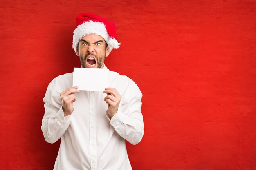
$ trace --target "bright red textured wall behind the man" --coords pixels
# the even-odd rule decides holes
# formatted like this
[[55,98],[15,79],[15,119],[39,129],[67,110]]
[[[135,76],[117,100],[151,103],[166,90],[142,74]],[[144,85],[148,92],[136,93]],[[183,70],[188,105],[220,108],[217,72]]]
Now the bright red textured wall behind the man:
[[143,93],[145,134],[133,169],[256,169],[256,1],[0,2],[0,169],[52,169],[43,97],[79,67],[76,15],[115,22],[106,59]]

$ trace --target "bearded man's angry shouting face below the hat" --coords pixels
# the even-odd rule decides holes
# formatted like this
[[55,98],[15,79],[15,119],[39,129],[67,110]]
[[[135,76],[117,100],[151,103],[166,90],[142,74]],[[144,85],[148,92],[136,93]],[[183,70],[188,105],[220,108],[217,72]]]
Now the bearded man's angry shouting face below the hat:
[[83,36],[76,51],[83,68],[103,68],[105,57],[110,53],[105,40],[96,34]]

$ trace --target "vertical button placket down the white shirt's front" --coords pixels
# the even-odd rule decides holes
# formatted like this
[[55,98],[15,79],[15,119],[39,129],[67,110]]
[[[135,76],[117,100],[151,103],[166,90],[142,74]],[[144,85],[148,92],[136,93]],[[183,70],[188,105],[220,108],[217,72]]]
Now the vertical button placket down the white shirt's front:
[[91,170],[97,170],[97,146],[96,146],[96,114],[95,114],[95,93],[90,91],[90,110],[89,110],[89,127],[90,127],[90,161]]

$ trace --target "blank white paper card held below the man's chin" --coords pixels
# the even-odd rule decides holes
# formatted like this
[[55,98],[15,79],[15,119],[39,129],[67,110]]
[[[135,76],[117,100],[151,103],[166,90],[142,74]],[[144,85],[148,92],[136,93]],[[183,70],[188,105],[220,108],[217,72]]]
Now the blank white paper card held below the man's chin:
[[74,68],[73,87],[84,91],[104,91],[108,87],[108,69]]

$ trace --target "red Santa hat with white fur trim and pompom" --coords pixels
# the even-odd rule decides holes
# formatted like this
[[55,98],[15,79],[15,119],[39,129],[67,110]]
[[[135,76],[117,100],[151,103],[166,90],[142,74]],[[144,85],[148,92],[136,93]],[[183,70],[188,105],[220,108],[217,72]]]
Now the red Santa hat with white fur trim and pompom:
[[97,34],[100,35],[112,49],[119,48],[115,24],[98,15],[92,13],[80,13],[76,17],[76,29],[73,35],[73,49],[75,52],[81,38],[85,35]]

